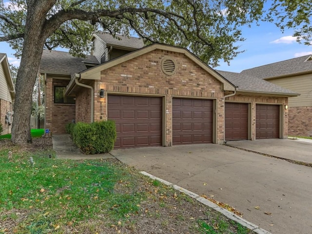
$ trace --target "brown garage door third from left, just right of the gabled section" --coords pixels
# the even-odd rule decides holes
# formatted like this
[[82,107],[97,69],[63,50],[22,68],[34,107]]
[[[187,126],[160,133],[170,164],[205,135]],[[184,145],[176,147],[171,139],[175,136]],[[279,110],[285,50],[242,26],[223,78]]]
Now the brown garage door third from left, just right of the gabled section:
[[225,103],[225,140],[248,139],[248,104]]

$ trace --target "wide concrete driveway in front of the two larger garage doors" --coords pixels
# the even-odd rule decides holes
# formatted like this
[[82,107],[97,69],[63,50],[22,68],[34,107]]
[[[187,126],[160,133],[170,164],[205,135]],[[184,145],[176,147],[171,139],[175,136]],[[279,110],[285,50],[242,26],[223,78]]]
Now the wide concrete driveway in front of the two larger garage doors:
[[112,154],[140,171],[196,194],[214,196],[273,234],[312,233],[310,167],[215,144],[114,150]]

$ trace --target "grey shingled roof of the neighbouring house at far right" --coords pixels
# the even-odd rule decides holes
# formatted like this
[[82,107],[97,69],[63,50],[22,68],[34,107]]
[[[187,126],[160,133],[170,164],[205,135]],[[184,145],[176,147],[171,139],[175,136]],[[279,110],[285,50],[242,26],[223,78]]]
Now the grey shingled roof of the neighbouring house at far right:
[[312,72],[312,60],[310,58],[312,58],[311,55],[306,55],[295,59],[274,62],[260,67],[243,70],[240,74],[250,75],[257,78],[273,78],[301,72]]

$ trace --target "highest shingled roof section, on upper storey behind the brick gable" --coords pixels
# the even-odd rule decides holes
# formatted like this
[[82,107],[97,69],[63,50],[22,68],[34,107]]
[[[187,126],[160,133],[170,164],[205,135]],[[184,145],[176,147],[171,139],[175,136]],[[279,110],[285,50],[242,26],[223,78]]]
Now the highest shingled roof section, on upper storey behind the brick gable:
[[99,39],[103,40],[107,46],[115,46],[129,49],[140,49],[144,47],[144,42],[140,38],[127,37],[116,34],[114,38],[111,34],[97,32],[94,35],[98,36]]

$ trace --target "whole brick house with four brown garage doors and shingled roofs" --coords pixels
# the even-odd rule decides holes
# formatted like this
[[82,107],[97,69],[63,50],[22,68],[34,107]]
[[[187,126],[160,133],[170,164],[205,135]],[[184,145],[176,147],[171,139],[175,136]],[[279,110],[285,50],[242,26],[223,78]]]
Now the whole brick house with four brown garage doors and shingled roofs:
[[[296,96],[292,91],[217,72],[184,48],[143,46],[140,39],[120,38],[95,34],[92,55],[75,58],[79,69],[75,65],[71,69],[76,72],[67,74],[57,72],[69,69],[68,54],[60,61],[58,53],[65,52],[43,53],[40,73],[46,77],[47,128],[63,133],[72,119],[113,119],[116,148],[288,136],[285,106],[288,97]],[[57,64],[50,66],[54,60]],[[58,82],[61,96],[56,92]],[[58,103],[70,97],[76,104]]]

